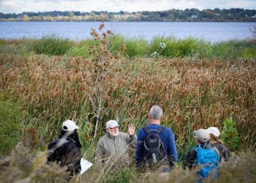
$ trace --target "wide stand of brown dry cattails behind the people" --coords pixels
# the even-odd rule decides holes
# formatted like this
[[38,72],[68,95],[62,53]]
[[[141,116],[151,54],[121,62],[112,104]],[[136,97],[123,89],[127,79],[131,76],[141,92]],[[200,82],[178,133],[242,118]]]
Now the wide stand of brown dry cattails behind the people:
[[[83,138],[92,144],[94,120],[86,91],[95,92],[89,59],[66,56],[14,56],[0,54],[0,87],[21,98],[41,137],[47,142],[66,118],[79,121]],[[222,129],[232,118],[241,135],[241,149],[255,149],[256,67],[254,61],[219,59],[122,59],[114,75],[105,80],[98,137],[106,120],[144,125],[153,104],[164,109],[163,124],[175,133],[178,150],[191,146],[191,132],[200,127]]]

